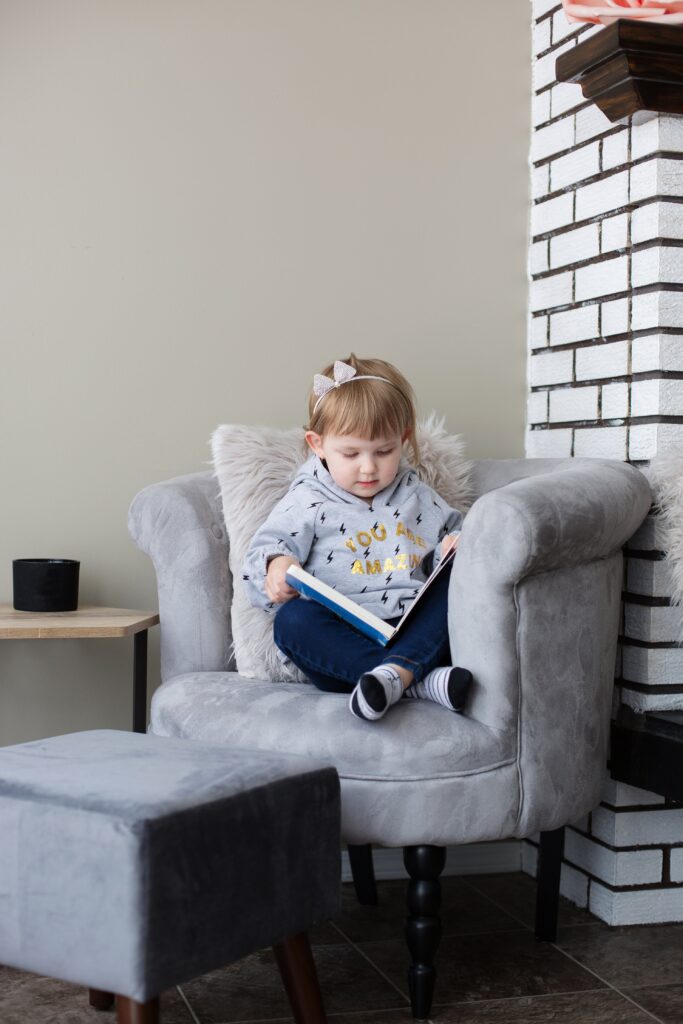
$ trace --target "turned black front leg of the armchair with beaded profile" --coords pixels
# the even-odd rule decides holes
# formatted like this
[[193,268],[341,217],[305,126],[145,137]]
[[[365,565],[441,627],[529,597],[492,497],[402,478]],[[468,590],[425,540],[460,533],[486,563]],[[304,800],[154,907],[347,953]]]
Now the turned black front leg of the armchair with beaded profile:
[[434,956],[441,940],[441,885],[438,877],[445,864],[442,846],[407,846],[403,863],[411,879],[408,883],[405,939],[411,953],[408,987],[413,1016],[426,1021],[434,993]]

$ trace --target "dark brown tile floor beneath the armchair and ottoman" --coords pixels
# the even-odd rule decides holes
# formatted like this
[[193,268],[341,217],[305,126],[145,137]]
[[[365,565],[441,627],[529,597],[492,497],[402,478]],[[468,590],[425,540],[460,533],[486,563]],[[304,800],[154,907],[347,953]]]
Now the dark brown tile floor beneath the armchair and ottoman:
[[[608,928],[562,901],[556,944],[532,934],[525,874],[444,878],[436,1024],[683,1024],[683,925]],[[344,886],[334,924],[312,935],[330,1024],[411,1024],[404,885],[362,907]],[[165,993],[163,1024],[287,1021],[269,950]],[[0,968],[0,1024],[113,1024],[83,989]]]

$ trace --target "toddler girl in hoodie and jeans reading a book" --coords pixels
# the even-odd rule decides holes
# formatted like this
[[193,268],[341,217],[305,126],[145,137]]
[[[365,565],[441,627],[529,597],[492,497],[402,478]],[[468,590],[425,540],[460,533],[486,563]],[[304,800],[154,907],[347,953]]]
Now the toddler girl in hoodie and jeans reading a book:
[[390,362],[351,354],[315,375],[304,429],[313,454],[245,559],[251,603],[278,607],[276,646],[319,689],[350,691],[357,718],[376,721],[401,696],[461,711],[472,676],[449,664],[449,568],[385,648],[317,602],[296,600],[286,580],[302,565],[395,626],[457,547],[462,514],[403,456],[408,444],[419,462],[411,385]]

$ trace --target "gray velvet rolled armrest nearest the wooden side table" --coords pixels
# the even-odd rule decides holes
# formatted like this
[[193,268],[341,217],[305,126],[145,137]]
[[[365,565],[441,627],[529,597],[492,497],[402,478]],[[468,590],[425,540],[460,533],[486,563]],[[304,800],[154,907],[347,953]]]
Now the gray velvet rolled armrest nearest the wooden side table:
[[145,487],[130,506],[128,530],[157,573],[162,681],[184,672],[233,669],[232,578],[213,474]]

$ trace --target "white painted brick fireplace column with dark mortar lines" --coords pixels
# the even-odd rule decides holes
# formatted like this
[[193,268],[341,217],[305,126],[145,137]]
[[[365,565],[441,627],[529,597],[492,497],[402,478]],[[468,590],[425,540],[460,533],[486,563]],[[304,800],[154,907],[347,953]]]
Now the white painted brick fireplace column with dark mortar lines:
[[[683,447],[683,116],[612,124],[555,78],[557,56],[601,27],[569,25],[554,0],[531,7],[526,454],[646,465]],[[652,517],[625,577],[614,707],[683,709],[682,613]],[[609,924],[683,921],[683,809],[610,781],[566,829],[562,892]]]

